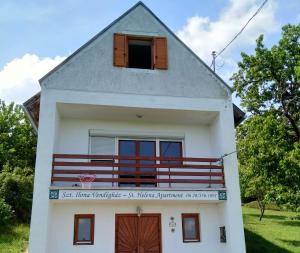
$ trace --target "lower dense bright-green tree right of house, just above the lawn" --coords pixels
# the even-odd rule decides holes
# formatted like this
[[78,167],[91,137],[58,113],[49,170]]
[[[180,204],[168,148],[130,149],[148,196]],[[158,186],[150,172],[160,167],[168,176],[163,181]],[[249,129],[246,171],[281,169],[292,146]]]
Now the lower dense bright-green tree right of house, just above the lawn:
[[[287,138],[285,122],[272,111],[249,117],[237,129],[242,197],[296,209],[300,194],[300,147]],[[298,197],[297,197],[298,196]]]

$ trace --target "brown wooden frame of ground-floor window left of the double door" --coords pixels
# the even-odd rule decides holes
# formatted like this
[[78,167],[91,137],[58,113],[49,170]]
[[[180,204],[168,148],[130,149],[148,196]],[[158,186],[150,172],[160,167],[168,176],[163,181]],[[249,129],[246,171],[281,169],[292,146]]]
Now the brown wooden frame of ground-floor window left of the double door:
[[[79,220],[80,219],[90,219],[90,236],[91,240],[81,241],[78,240],[78,229],[79,229]],[[94,245],[94,232],[95,232],[95,214],[75,214],[74,215],[74,238],[73,245]]]

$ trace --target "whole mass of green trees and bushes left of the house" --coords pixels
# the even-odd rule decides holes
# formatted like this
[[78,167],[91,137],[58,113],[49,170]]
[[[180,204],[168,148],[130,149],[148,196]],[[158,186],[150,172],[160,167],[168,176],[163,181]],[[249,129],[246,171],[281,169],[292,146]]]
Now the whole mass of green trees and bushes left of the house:
[[21,107],[0,100],[0,220],[8,222],[13,211],[29,221],[35,152],[36,135]]

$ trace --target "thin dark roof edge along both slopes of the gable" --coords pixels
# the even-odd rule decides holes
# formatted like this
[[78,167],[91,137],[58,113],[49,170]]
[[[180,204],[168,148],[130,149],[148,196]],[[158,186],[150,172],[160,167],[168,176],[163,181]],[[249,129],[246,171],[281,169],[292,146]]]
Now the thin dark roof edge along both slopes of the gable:
[[224,87],[226,87],[230,92],[233,92],[233,89],[218,75],[216,74],[198,55],[194,53],[181,39],[177,37],[177,35],[166,25],[164,24],[143,2],[139,1],[134,6],[132,6],[129,10],[127,10],[123,15],[121,15],[119,18],[117,18],[115,21],[113,21],[111,24],[109,24],[107,27],[105,27],[102,31],[100,31],[98,34],[96,34],[92,39],[90,39],[88,42],[86,42],[84,45],[82,45],[80,48],[78,48],[74,53],[72,53],[69,57],[67,57],[64,61],[62,61],[59,65],[57,65],[54,69],[49,71],[45,76],[43,76],[39,82],[42,83],[48,76],[50,76],[52,73],[54,73],[56,70],[60,69],[63,65],[65,65],[68,61],[70,61],[75,55],[77,55],[80,51],[82,51],[84,48],[86,48],[88,45],[90,45],[93,41],[95,41],[97,38],[99,38],[103,33],[105,33],[109,28],[111,28],[114,24],[118,23],[122,18],[127,16],[130,12],[132,12],[134,9],[136,9],[138,6],[142,6],[145,8],[179,43],[182,44],[183,47],[185,47],[194,57],[200,61],[203,66],[213,75],[216,77],[216,79],[222,84]]

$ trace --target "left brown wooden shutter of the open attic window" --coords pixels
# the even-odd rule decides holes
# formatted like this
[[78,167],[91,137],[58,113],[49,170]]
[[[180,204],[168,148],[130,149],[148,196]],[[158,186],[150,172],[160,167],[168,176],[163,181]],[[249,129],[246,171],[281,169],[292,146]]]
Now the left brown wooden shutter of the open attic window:
[[114,34],[114,66],[127,66],[127,43],[125,34]]

